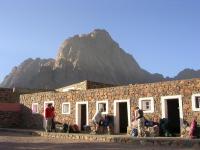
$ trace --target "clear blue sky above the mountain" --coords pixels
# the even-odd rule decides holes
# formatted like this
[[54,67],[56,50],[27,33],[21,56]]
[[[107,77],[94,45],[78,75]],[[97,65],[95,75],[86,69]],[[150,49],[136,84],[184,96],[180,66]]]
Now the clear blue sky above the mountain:
[[64,39],[106,29],[151,73],[200,69],[200,0],[0,0],[0,81]]

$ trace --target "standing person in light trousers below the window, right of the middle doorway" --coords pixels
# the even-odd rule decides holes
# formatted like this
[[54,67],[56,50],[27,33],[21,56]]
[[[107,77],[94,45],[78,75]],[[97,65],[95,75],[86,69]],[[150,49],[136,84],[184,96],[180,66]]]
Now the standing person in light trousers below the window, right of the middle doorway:
[[143,115],[143,110],[139,109],[139,107],[136,107],[135,119],[138,122],[138,137],[144,137],[145,136],[144,115]]

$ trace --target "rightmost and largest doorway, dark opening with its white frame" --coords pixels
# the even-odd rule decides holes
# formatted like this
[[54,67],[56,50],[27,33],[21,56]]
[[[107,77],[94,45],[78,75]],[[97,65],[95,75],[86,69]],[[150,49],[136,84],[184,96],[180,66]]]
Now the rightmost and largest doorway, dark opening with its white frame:
[[183,124],[183,108],[181,95],[162,96],[162,118],[168,119],[168,128],[173,136],[180,135]]

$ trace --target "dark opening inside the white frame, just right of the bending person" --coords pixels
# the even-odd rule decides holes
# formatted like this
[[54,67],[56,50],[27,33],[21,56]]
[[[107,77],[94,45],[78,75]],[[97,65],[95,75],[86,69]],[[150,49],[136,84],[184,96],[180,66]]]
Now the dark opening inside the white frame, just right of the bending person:
[[127,103],[120,102],[119,103],[119,131],[120,133],[127,133],[127,127],[128,127]]

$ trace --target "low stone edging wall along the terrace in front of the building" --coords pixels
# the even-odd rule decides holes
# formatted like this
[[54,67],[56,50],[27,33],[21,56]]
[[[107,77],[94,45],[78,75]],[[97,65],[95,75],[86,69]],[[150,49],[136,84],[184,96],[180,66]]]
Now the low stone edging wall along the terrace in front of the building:
[[[41,131],[33,132],[34,135],[40,135],[49,138],[70,139],[70,140],[85,140],[96,142],[116,142],[116,143],[129,143],[137,146],[155,146],[163,147],[176,147],[176,148],[199,148],[200,140],[195,139],[182,139],[182,138],[133,138],[127,135],[91,135],[91,134],[67,134],[67,133],[46,133]],[[152,147],[152,148],[153,148]]]

